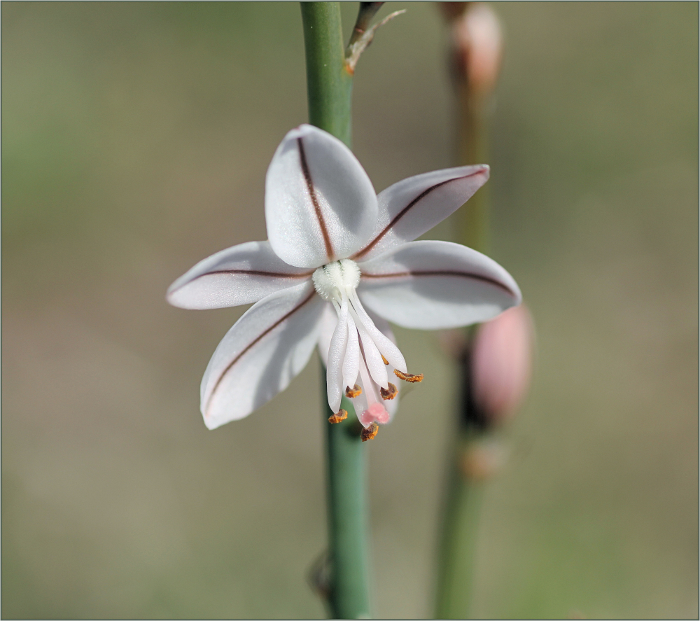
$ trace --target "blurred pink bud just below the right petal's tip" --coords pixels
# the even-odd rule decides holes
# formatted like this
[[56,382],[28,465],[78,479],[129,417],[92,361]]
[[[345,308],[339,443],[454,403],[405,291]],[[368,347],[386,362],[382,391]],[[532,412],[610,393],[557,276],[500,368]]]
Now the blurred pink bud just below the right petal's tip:
[[524,400],[530,386],[533,345],[533,323],[524,305],[479,327],[472,349],[472,398],[489,421],[509,419]]

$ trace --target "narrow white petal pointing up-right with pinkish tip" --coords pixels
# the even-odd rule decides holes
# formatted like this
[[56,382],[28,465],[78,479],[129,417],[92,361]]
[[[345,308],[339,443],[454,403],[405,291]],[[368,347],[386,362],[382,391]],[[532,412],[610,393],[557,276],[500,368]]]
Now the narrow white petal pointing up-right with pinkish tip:
[[462,166],[409,177],[379,193],[370,241],[351,258],[370,260],[412,242],[459,209],[489,179],[486,165]]

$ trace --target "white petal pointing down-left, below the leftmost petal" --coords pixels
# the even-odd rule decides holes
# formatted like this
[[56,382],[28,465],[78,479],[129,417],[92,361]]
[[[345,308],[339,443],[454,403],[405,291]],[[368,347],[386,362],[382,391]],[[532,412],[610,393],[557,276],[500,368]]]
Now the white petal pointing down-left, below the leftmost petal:
[[253,305],[218,344],[202,377],[204,424],[214,429],[267,403],[306,366],[323,303],[311,282]]

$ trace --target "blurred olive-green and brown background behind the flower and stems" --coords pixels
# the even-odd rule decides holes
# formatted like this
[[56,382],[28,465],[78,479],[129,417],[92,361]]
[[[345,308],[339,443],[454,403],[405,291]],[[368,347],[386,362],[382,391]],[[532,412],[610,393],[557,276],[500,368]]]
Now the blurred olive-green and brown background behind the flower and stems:
[[[473,612],[697,617],[698,5],[494,7],[492,255],[538,361]],[[377,190],[454,165],[442,18],[396,8],[356,72]],[[243,309],[165,302],[266,237],[267,164],[307,119],[299,7],[1,11],[2,616],[322,617],[318,361],[207,431],[200,378]],[[434,333],[396,332],[426,381],[368,446],[372,598],[427,617],[456,370]]]

